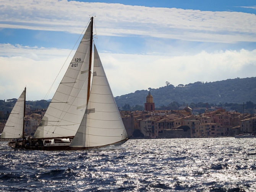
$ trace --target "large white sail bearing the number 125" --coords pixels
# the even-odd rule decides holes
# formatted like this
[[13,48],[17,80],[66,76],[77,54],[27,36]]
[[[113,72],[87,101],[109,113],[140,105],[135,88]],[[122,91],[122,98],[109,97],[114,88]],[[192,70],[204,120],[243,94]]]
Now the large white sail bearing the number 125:
[[75,136],[87,104],[91,22],[33,138]]

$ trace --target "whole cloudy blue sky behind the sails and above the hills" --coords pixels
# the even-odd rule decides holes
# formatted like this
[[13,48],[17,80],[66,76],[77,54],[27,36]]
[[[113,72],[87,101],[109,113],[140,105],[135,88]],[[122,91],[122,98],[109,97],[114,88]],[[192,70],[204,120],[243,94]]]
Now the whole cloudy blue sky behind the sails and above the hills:
[[0,99],[52,98],[90,15],[114,96],[255,77],[255,14],[254,0],[0,0]]

